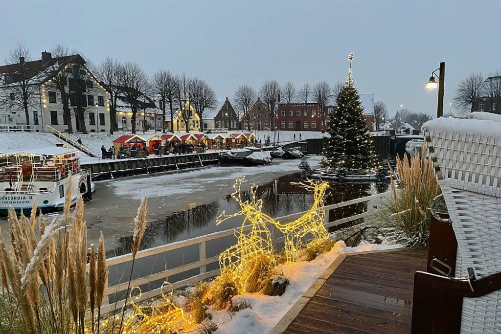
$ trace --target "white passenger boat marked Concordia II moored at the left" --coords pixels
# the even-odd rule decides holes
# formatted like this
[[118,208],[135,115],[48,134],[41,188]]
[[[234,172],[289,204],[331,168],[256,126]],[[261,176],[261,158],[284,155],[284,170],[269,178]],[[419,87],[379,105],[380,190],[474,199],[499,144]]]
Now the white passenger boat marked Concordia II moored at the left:
[[30,212],[35,200],[44,212],[62,210],[70,175],[71,205],[79,194],[90,197],[95,185],[90,171],[80,168],[77,152],[48,147],[0,154],[0,215],[7,215],[10,205]]

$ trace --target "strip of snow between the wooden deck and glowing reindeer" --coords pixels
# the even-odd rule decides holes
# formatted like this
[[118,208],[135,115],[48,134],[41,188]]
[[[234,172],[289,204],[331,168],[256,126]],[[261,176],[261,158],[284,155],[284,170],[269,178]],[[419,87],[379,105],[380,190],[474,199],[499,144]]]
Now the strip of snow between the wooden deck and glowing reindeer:
[[242,309],[234,315],[226,310],[212,312],[212,321],[218,328],[217,334],[268,333],[299,300],[306,290],[324,272],[325,269],[341,254],[369,250],[383,250],[399,247],[397,245],[361,244],[357,247],[346,247],[344,241],[338,241],[327,253],[307,262],[286,263],[280,267],[290,284],[281,296],[262,294],[244,294],[233,297],[244,299],[250,308]]

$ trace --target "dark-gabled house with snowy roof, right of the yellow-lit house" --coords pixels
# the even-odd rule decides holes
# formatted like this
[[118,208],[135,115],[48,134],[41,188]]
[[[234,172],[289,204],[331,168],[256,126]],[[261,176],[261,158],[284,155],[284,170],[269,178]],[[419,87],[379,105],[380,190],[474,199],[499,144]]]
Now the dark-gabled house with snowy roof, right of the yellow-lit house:
[[[238,130],[240,122],[228,98],[218,100],[219,104],[213,110],[203,114],[203,131],[208,130]],[[210,125],[210,127],[209,127]]]

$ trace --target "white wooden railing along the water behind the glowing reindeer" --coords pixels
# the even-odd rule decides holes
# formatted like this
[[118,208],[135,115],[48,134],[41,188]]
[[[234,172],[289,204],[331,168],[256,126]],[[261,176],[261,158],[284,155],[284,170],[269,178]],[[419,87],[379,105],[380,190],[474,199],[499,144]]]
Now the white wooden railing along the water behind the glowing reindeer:
[[[350,221],[354,221],[357,219],[367,217],[367,216],[373,214],[375,209],[377,209],[377,205],[369,205],[370,204],[369,202],[373,201],[373,200],[378,200],[381,198],[388,198],[388,197],[390,197],[391,193],[392,193],[391,191],[387,191],[387,192],[380,193],[380,194],[375,194],[375,195],[361,197],[361,198],[357,198],[357,199],[353,199],[353,200],[349,200],[349,201],[345,201],[345,202],[341,202],[341,203],[327,205],[325,207],[326,214],[325,214],[325,218],[324,218],[324,226],[326,228],[329,228],[329,227],[338,226],[338,225],[345,224],[345,223],[350,222]],[[350,217],[345,217],[345,218],[337,219],[334,221],[329,221],[329,211],[330,210],[334,210],[334,209],[338,209],[338,208],[346,207],[348,205],[353,205],[353,204],[362,203],[362,202],[368,202],[367,211],[350,216]],[[298,213],[294,213],[294,214],[287,215],[287,216],[277,217],[275,219],[280,220],[282,223],[287,223],[287,222],[290,222],[290,221],[297,219],[299,216],[305,214],[306,212],[307,211],[298,212]],[[246,226],[244,226],[244,230],[249,230],[251,227],[252,227],[251,225],[246,225]],[[140,285],[148,284],[148,283],[158,281],[161,279],[167,279],[169,276],[183,273],[185,271],[193,270],[193,269],[197,269],[197,268],[199,269],[199,274],[196,274],[196,275],[184,278],[182,280],[179,280],[177,282],[174,282],[172,284],[172,288],[173,289],[180,288],[180,287],[183,287],[183,286],[186,286],[189,284],[193,284],[197,281],[216,276],[219,273],[219,269],[206,271],[206,267],[209,264],[213,264],[213,263],[218,262],[219,255],[215,255],[215,256],[211,256],[211,257],[207,258],[205,255],[206,254],[206,243],[207,243],[207,241],[216,240],[216,239],[220,239],[223,237],[233,235],[233,232],[235,230],[239,230],[239,229],[240,229],[240,227],[227,229],[224,231],[214,232],[214,233],[210,233],[207,235],[203,235],[203,236],[199,236],[199,237],[195,237],[195,238],[191,238],[191,239],[187,239],[187,240],[176,241],[176,242],[169,243],[166,245],[148,248],[148,249],[144,249],[144,250],[137,252],[136,261],[141,259],[141,258],[148,257],[148,256],[162,254],[162,253],[165,253],[168,251],[176,250],[176,249],[187,247],[187,246],[198,245],[199,257],[198,257],[197,261],[194,261],[191,263],[183,264],[183,265],[180,265],[177,267],[173,267],[173,268],[166,269],[166,270],[159,271],[159,272],[155,272],[155,273],[152,273],[152,274],[149,274],[146,276],[135,278],[131,281],[130,286],[140,286]],[[283,236],[282,237],[275,237],[273,241],[275,243],[277,243],[277,242],[283,240],[283,238],[284,238]],[[132,254],[129,253],[129,254],[124,254],[124,255],[108,258],[106,260],[106,263],[108,264],[108,268],[109,268],[110,266],[119,265],[119,264],[130,262],[130,261],[132,261]],[[108,283],[108,282],[106,282],[106,283]],[[123,306],[123,303],[124,303],[123,299],[115,302],[114,300],[110,300],[110,297],[111,297],[111,295],[113,295],[115,293],[125,292],[127,289],[127,286],[128,286],[128,281],[123,281],[121,283],[111,285],[111,286],[107,285],[106,294],[105,294],[105,298],[104,298],[104,305],[102,307],[103,312],[108,312],[108,311],[113,310],[115,307],[120,308]],[[144,300],[144,299],[148,299],[148,298],[157,296],[160,294],[160,292],[161,292],[160,288],[156,288],[156,289],[153,289],[150,291],[143,291],[143,293],[141,294],[140,300]]]

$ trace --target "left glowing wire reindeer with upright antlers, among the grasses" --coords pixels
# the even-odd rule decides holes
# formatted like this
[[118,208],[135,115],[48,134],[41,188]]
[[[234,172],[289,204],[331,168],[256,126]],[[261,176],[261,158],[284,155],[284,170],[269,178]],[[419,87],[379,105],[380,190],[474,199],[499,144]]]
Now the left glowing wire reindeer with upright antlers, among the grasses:
[[[265,276],[276,266],[272,237],[266,222],[273,219],[262,213],[263,200],[256,200],[257,186],[250,188],[249,199],[243,201],[240,185],[245,177],[237,178],[231,197],[240,205],[240,211],[226,215],[223,211],[216,219],[216,225],[232,217],[243,215],[242,225],[235,231],[237,242],[219,255],[221,276],[229,275],[238,293],[255,292],[256,286],[249,284],[257,277]],[[244,227],[249,222],[250,226]],[[228,277],[228,276],[226,276]]]

